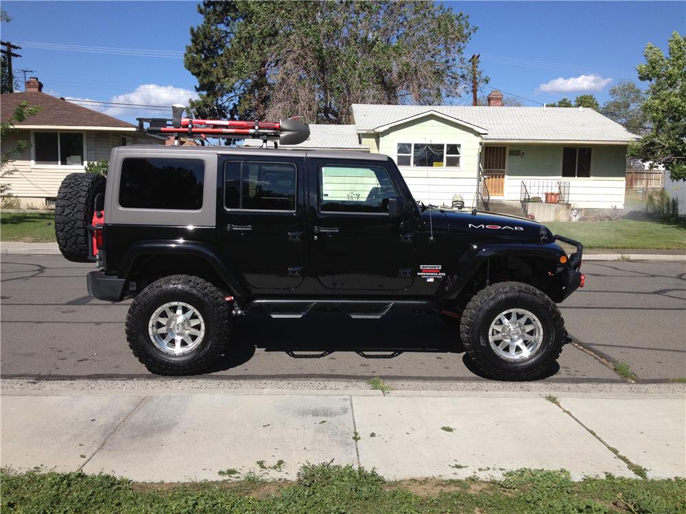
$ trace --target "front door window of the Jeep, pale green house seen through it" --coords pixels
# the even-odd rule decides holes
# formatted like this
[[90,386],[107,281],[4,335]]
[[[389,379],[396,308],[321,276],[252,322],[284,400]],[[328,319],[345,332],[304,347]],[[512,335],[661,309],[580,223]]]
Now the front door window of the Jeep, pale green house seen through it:
[[388,171],[383,168],[320,168],[323,212],[388,212],[388,199],[397,195]]

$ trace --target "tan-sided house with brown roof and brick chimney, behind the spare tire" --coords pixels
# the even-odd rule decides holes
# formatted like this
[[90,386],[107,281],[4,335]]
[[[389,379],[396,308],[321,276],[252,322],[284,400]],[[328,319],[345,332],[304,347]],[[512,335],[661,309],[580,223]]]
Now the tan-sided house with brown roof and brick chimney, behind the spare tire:
[[114,147],[165,144],[163,138],[137,132],[136,125],[43,93],[43,84],[36,77],[26,82],[25,92],[0,96],[2,121],[23,101],[40,106],[40,110],[14,123],[16,132],[1,142],[3,147],[14,146],[18,140],[29,143],[10,162],[14,174],[3,178],[23,208],[50,206],[64,177],[84,171],[88,162],[108,160]]

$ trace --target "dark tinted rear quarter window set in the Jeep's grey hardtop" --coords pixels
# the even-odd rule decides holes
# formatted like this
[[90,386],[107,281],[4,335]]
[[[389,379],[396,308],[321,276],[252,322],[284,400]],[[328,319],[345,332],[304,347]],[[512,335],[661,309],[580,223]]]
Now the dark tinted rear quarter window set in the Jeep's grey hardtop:
[[121,164],[119,205],[139,209],[202,208],[204,162],[128,158]]

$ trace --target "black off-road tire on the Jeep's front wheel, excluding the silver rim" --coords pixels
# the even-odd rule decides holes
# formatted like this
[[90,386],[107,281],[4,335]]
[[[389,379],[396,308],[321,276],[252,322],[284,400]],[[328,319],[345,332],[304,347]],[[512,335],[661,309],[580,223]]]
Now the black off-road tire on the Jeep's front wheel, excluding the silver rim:
[[[488,342],[490,323],[510,308],[523,308],[541,322],[543,340],[528,360],[509,362]],[[556,304],[545,293],[521,282],[499,282],[482,289],[470,300],[460,323],[466,352],[486,376],[495,380],[536,380],[552,368],[565,343],[565,322]]]

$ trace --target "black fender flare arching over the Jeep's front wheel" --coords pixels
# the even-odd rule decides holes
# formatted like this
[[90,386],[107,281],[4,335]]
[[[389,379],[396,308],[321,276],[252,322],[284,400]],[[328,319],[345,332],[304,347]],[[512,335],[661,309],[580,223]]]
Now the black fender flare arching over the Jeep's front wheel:
[[558,261],[565,251],[555,243],[539,245],[536,243],[482,242],[467,247],[462,257],[451,266],[443,280],[440,299],[455,299],[464,286],[471,280],[481,265],[494,256],[520,256],[544,258]]

